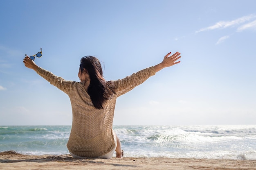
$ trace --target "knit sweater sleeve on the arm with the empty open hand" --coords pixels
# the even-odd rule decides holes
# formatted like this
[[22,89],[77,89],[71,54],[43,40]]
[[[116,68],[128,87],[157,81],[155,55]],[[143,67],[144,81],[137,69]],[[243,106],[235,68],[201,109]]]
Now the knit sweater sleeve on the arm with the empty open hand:
[[144,70],[140,70],[137,73],[133,73],[126,78],[119,79],[114,82],[115,84],[115,93],[117,96],[121,96],[132,90],[134,87],[142,84],[146,81],[150,76],[155,75],[155,68],[154,66],[150,68],[146,68]]

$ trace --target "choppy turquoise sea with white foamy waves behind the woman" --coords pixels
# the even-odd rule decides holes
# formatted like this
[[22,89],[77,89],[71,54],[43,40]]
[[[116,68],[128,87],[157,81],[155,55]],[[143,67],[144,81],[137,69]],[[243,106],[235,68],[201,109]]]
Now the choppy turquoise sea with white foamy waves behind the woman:
[[[113,126],[125,157],[256,160],[256,125]],[[0,126],[0,152],[65,155],[71,126]],[[115,156],[115,154],[113,155]]]

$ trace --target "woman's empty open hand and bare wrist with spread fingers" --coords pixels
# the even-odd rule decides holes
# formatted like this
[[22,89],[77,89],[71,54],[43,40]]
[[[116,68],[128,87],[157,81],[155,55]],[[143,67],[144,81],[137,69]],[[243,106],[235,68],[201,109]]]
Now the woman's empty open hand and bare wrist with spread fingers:
[[[164,60],[161,63],[155,65],[155,72],[158,72],[158,71],[162,70],[163,68],[170,67],[172,65],[180,63],[180,61],[177,61],[181,57],[180,52],[175,52],[171,56],[170,56],[170,54],[171,54],[171,52],[166,54],[166,56],[164,56]],[[175,61],[177,61],[177,62],[175,62]]]

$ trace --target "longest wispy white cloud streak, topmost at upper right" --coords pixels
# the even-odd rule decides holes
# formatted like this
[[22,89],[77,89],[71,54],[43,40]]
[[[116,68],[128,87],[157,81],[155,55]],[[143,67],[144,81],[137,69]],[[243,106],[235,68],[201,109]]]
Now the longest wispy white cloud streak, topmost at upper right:
[[213,26],[202,28],[199,31],[196,31],[195,33],[200,33],[202,31],[214,30],[214,29],[218,29],[218,28],[227,28],[230,26],[236,26],[236,25],[242,24],[244,22],[250,21],[254,18],[256,18],[256,15],[251,14],[251,15],[240,17],[240,18],[238,18],[236,20],[232,20],[232,21],[220,21],[220,22],[217,22],[216,24],[214,24]]

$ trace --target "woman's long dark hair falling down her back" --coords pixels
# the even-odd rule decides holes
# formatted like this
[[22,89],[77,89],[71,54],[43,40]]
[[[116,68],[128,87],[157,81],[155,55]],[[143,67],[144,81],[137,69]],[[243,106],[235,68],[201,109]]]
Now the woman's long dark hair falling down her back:
[[91,97],[94,107],[103,109],[103,103],[110,99],[113,92],[113,85],[107,83],[103,78],[103,71],[100,61],[93,56],[85,56],[80,60],[81,73],[83,69],[87,70],[90,76],[90,85],[88,86],[88,94]]

